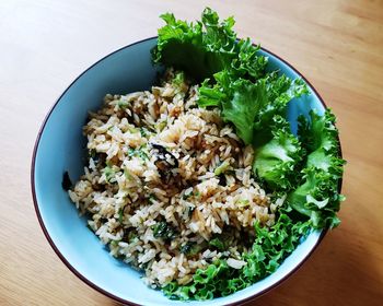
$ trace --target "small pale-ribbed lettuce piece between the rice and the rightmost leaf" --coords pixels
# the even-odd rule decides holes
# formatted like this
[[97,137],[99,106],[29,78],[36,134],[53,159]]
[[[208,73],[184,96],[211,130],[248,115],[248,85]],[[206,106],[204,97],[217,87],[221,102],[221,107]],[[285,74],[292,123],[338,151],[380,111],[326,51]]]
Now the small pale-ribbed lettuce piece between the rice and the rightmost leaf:
[[302,158],[301,144],[281,116],[274,117],[271,133],[271,140],[255,150],[253,172],[274,190],[290,189]]

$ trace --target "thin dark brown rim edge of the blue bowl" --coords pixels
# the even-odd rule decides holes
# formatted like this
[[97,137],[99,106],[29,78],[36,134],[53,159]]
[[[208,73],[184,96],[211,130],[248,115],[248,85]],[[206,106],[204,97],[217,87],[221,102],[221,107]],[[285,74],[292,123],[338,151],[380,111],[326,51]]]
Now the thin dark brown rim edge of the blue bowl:
[[[31,188],[32,188],[32,197],[33,197],[33,202],[34,202],[34,208],[35,208],[35,212],[38,219],[38,223],[43,229],[43,233],[46,237],[46,239],[48,240],[50,247],[54,249],[54,251],[56,252],[56,255],[60,258],[60,260],[67,266],[67,268],[72,271],[72,273],[74,273],[80,280],[82,280],[85,284],[88,284],[89,286],[91,286],[92,289],[94,289],[95,291],[104,294],[105,296],[125,304],[125,305],[137,305],[139,306],[139,304],[136,304],[134,302],[124,299],[119,296],[116,296],[114,294],[112,294],[111,292],[105,291],[104,289],[100,287],[98,285],[96,285],[95,283],[93,283],[92,281],[90,281],[89,279],[86,279],[84,275],[82,275],[66,258],[65,256],[60,252],[60,250],[58,249],[58,247],[55,245],[53,238],[50,237],[47,228],[45,227],[42,214],[39,212],[39,208],[38,208],[38,202],[37,202],[37,197],[36,197],[36,191],[35,191],[35,162],[36,162],[36,155],[37,155],[37,151],[38,151],[38,144],[42,138],[42,134],[44,132],[45,126],[51,115],[51,113],[55,110],[56,106],[58,105],[58,103],[61,101],[62,96],[69,91],[69,89],[83,75],[85,74],[90,69],[92,69],[94,66],[96,66],[98,62],[103,61],[104,59],[113,56],[114,54],[125,49],[125,48],[129,48],[131,46],[135,46],[137,44],[141,44],[144,43],[147,40],[151,40],[151,39],[155,39],[158,38],[158,36],[152,36],[146,39],[141,39],[138,42],[135,42],[130,45],[124,46],[108,55],[106,55],[105,57],[103,57],[102,59],[97,60],[96,62],[94,62],[92,66],[90,66],[88,69],[85,69],[79,76],[77,76],[70,84],[69,86],[63,91],[63,93],[56,99],[55,104],[50,107],[48,114],[45,116],[43,125],[37,133],[37,138],[36,138],[36,142],[34,145],[34,150],[33,150],[33,155],[32,155],[32,165],[31,165]],[[253,44],[254,45],[254,44]],[[276,54],[269,51],[268,49],[260,47],[260,49],[271,56],[274,56],[275,58],[277,58],[278,60],[280,60],[281,62],[283,62],[285,64],[287,64],[292,71],[294,71],[300,78],[302,78],[302,80],[304,80],[304,82],[312,89],[312,91],[315,93],[315,95],[318,97],[321,104],[324,106],[324,108],[328,108],[327,105],[325,104],[325,102],[323,101],[322,96],[318,94],[318,92],[316,91],[316,89],[309,82],[309,80],[301,73],[299,72],[292,64],[290,64],[288,61],[286,61],[285,59],[280,58],[279,56],[277,56]],[[341,153],[341,145],[340,145],[340,141],[339,141],[339,156],[343,156]],[[341,190],[341,185],[343,185],[343,179],[339,179],[339,184],[338,184],[338,190],[340,192]],[[323,238],[325,237],[325,235],[327,234],[328,228],[325,228],[322,231],[320,238],[317,239],[315,246],[310,250],[310,252],[304,257],[304,259],[294,267],[294,269],[292,269],[288,274],[286,274],[281,280],[279,280],[278,282],[274,283],[272,285],[268,286],[267,289],[255,293],[254,295],[251,295],[246,298],[240,299],[235,303],[231,303],[231,304],[227,304],[227,305],[241,305],[244,304],[246,302],[253,301],[255,298],[260,297],[262,295],[268,293],[269,291],[276,289],[277,286],[279,286],[282,282],[285,282],[288,278],[290,278],[293,273],[295,273],[302,266],[303,263],[312,256],[312,254],[315,251],[315,249],[317,248],[317,246],[321,244],[321,242],[323,240]]]

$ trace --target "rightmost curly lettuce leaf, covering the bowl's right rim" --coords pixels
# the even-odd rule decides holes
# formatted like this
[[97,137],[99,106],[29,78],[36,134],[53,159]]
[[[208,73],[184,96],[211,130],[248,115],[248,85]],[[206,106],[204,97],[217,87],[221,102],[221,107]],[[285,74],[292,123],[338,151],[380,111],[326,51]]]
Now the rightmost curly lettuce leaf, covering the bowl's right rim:
[[323,116],[310,113],[310,119],[299,119],[299,138],[307,152],[301,184],[292,190],[287,202],[310,217],[316,228],[335,227],[340,221],[336,213],[345,197],[338,191],[345,161],[339,157],[338,131],[335,116],[326,109]]

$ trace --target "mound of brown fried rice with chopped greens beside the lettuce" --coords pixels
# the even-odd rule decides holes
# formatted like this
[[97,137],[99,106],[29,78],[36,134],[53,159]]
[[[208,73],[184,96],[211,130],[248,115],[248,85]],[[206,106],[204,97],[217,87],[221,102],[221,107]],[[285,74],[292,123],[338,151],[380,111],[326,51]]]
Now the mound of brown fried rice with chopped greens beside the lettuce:
[[[254,181],[253,149],[219,110],[197,107],[197,87],[172,71],[165,80],[151,92],[108,94],[90,114],[89,165],[69,190],[111,254],[153,287],[186,284],[217,258],[241,269],[254,222],[271,226],[282,201]],[[217,237],[230,246],[209,244]]]

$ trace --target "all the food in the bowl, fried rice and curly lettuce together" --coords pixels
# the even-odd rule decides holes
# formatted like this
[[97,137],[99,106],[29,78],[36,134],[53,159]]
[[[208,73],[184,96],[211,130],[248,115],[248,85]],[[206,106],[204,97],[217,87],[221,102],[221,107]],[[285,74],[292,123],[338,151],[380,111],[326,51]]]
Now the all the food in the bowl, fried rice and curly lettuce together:
[[233,20],[163,15],[151,91],[90,114],[84,175],[69,196],[113,256],[171,298],[209,299],[276,271],[344,197],[335,117],[285,118],[306,84],[268,70]]

